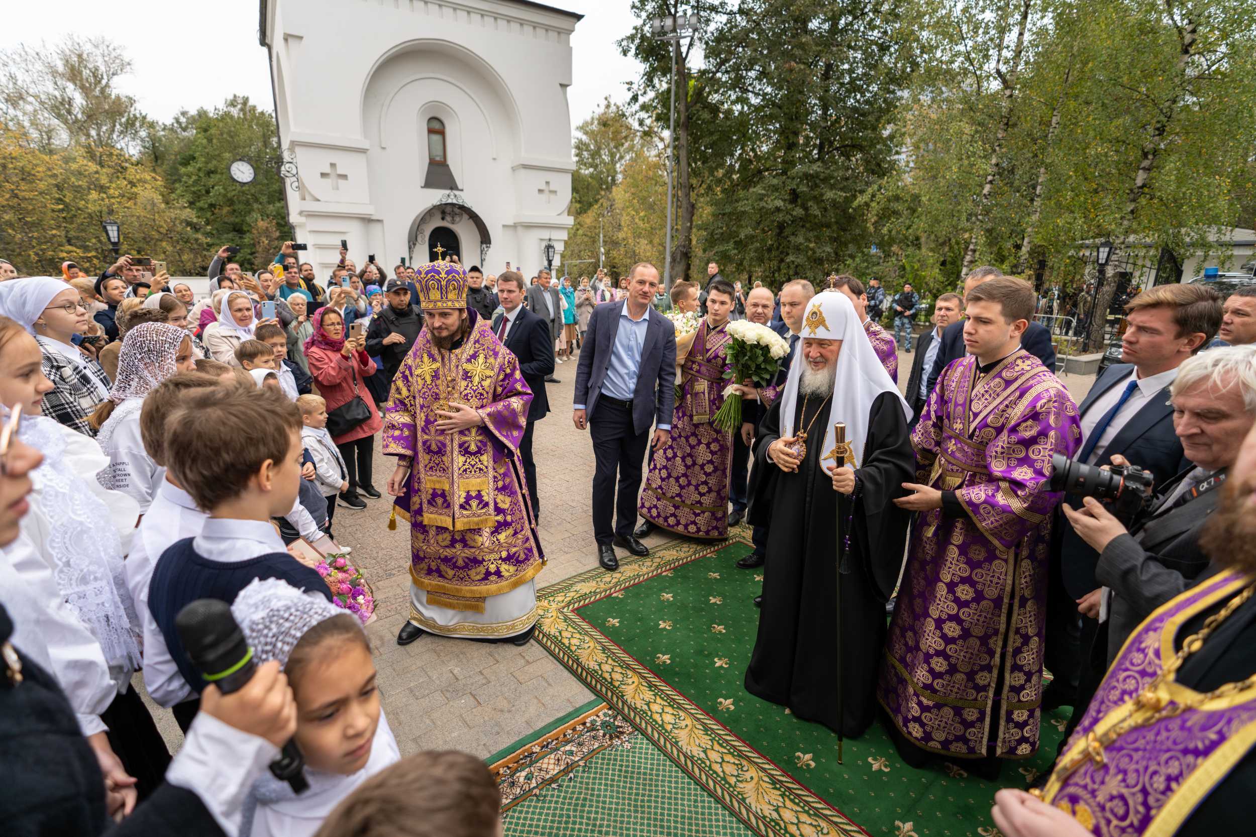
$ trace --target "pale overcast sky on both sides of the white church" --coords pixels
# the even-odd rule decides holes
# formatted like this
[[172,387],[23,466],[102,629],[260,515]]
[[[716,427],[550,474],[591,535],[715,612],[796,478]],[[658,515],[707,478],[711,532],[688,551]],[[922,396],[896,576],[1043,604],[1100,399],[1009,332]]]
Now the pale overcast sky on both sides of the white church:
[[[257,0],[171,3],[170,0],[0,0],[0,60],[19,43],[57,43],[69,34],[103,35],[132,45],[132,74],[122,89],[156,119],[180,111],[212,108],[242,93],[270,109],[266,50],[257,44]],[[582,13],[571,36],[573,84],[568,89],[571,127],[593,113],[605,96],[627,98],[624,82],[639,65],[619,55],[615,40],[633,25],[629,0],[546,0]]]

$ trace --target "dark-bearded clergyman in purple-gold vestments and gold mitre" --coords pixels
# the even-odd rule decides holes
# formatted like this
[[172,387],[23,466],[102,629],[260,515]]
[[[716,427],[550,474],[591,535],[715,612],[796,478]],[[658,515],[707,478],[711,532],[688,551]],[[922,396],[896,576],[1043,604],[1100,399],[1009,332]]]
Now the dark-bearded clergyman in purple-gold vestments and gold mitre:
[[543,555],[519,445],[533,392],[489,320],[467,308],[456,263],[414,278],[423,329],[393,378],[388,493],[411,524],[409,618],[423,633],[524,645],[536,623]]

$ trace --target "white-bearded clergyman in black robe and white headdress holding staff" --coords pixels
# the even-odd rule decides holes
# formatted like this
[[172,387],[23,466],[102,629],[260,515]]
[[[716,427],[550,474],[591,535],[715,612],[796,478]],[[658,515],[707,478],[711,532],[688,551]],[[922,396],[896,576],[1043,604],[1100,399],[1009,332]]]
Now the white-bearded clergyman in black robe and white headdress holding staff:
[[801,338],[755,444],[749,520],[771,527],[746,689],[857,736],[907,537],[911,410],[842,293],[811,298]]

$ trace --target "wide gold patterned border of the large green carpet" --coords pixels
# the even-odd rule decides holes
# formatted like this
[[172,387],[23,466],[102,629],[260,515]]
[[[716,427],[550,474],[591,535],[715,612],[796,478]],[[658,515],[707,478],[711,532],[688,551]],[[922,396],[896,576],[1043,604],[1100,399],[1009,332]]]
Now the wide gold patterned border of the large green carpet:
[[730,544],[749,544],[749,535],[741,525],[730,540],[673,540],[622,561],[618,572],[590,569],[550,584],[538,593],[536,641],[755,833],[867,834],[575,612]]

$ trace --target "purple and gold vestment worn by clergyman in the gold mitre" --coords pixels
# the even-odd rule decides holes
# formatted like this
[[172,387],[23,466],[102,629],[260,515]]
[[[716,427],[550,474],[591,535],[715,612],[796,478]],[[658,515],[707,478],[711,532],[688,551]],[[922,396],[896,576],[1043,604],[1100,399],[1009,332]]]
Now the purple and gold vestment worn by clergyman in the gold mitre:
[[[533,392],[489,322],[472,323],[451,351],[420,332],[393,378],[383,452],[413,461],[396,504],[411,524],[411,581],[430,603],[484,612],[484,598],[536,576],[543,554],[519,457]],[[441,432],[436,411],[450,402],[484,425]]]

